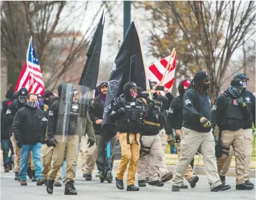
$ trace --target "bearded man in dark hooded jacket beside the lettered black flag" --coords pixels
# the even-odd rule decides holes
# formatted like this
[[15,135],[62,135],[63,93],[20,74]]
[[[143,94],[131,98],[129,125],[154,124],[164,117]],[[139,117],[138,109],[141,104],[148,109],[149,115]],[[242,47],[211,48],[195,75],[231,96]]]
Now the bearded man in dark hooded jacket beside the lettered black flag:
[[[106,162],[106,142],[103,140],[102,136],[102,117],[104,112],[104,104],[106,100],[106,94],[108,89],[108,83],[102,82],[97,87],[98,94],[93,100],[91,100],[91,104],[89,106],[89,116],[91,121],[93,122],[93,128],[95,130],[95,137],[96,137],[96,146],[97,146],[97,159],[96,165],[99,170],[96,177],[103,178],[104,172],[107,169],[107,162]],[[111,147],[112,151],[115,148],[115,137],[111,140]]]

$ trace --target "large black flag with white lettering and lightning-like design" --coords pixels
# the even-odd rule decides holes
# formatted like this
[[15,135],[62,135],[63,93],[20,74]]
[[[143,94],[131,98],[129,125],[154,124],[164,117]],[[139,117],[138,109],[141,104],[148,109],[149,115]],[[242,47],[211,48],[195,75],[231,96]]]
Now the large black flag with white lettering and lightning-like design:
[[[134,55],[135,66],[134,69],[130,70],[130,58]],[[115,124],[109,122],[108,118],[117,101],[122,98],[124,84],[130,81],[135,82],[138,87],[146,89],[145,68],[135,21],[132,21],[126,32],[124,41],[122,41],[121,48],[115,58],[110,80],[108,81],[108,93],[106,95],[102,122],[103,135],[106,141],[110,140],[117,132]]]

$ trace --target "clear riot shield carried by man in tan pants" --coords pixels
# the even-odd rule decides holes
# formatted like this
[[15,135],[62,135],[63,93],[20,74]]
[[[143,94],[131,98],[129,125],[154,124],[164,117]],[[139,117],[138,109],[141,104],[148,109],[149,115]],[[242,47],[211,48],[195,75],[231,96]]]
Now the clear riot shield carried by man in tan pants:
[[86,131],[89,87],[64,83],[56,124],[57,142],[78,143]]

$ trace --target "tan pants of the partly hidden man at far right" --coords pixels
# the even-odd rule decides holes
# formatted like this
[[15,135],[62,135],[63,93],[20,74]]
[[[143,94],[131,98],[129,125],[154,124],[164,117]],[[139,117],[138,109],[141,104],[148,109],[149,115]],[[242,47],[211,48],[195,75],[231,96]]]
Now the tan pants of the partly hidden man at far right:
[[[245,141],[245,155],[246,155],[246,162],[245,162],[245,169],[246,169],[246,181],[250,179],[250,166],[251,166],[251,153],[253,150],[253,129],[244,129],[243,130],[244,137],[246,139]],[[226,161],[224,162],[222,166],[222,170],[220,172],[220,175],[226,176],[226,173],[229,171],[232,157],[234,155],[235,151],[233,150],[232,146],[230,146],[229,150],[229,156],[226,158]]]

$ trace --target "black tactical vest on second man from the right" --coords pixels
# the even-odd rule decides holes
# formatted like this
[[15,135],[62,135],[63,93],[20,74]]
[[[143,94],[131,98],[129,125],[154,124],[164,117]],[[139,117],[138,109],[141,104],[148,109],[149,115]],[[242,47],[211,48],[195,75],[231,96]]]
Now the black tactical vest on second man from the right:
[[241,107],[236,100],[231,99],[226,95],[227,98],[227,112],[226,112],[226,126],[225,128],[230,131],[237,131],[242,128],[242,111]]

